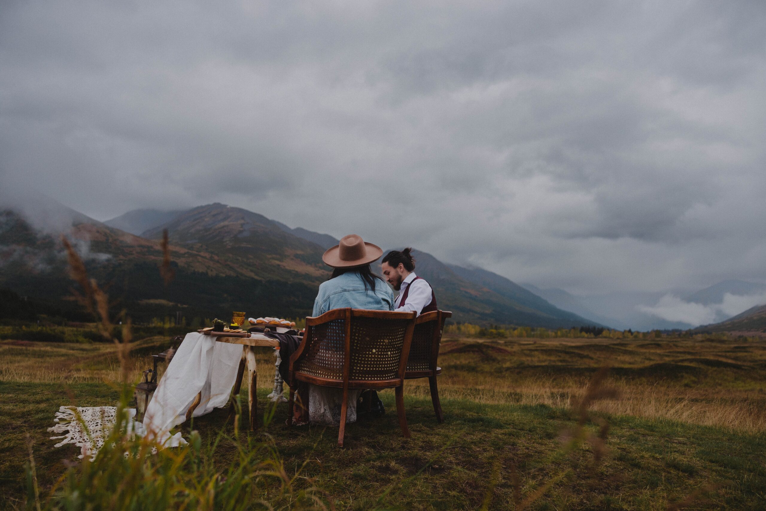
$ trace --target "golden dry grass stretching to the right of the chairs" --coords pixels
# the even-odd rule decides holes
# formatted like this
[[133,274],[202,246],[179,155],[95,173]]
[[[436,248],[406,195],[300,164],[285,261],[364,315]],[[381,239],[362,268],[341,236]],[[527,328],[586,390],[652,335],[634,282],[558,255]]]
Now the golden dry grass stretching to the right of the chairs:
[[[592,371],[605,366],[614,369],[608,381],[619,397],[594,403],[594,411],[761,432],[766,431],[764,364],[764,342],[447,339],[439,388],[443,399],[571,408],[584,395]],[[406,388],[410,395],[429,395],[426,379]]]

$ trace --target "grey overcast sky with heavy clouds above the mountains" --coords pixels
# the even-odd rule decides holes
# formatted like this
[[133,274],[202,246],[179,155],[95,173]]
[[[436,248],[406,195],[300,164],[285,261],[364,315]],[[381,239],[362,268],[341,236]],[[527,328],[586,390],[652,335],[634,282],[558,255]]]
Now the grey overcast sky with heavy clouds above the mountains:
[[0,185],[578,293],[766,277],[766,2],[0,2]]

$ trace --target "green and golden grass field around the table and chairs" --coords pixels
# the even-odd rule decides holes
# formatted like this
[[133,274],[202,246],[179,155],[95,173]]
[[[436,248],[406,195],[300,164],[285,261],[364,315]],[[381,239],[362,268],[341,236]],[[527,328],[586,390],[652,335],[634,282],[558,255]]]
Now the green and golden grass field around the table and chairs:
[[[139,343],[131,377],[168,342]],[[259,362],[263,416],[273,358]],[[434,417],[427,382],[408,382],[410,440],[391,391],[381,395],[388,413],[349,425],[343,448],[332,427],[287,430],[286,405],[257,435],[270,435],[286,472],[335,509],[766,509],[764,342],[456,338],[445,339],[440,365],[446,421]],[[568,442],[604,365],[617,396],[595,401],[581,431],[595,435],[605,421],[602,453],[597,440]],[[0,342],[0,506],[25,506],[26,435],[45,497],[79,454],[47,438],[54,412],[113,405],[118,380],[110,344]],[[221,409],[193,424],[221,467],[237,441],[213,452],[208,443],[221,429],[233,436],[227,418]]]

